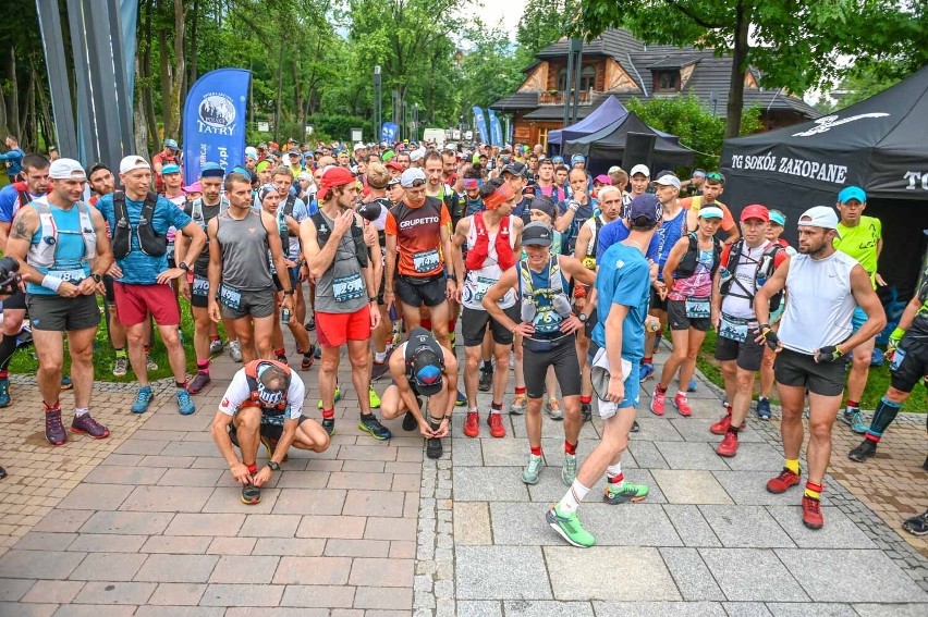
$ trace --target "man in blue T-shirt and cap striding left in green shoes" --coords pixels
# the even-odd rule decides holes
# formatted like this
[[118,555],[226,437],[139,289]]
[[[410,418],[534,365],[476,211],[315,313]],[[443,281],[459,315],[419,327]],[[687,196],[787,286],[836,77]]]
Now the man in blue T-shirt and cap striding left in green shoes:
[[[654,321],[648,316],[651,269],[642,254],[662,220],[660,201],[654,195],[640,195],[632,201],[628,217],[631,234],[607,249],[596,280],[599,322],[593,330],[591,351],[595,351],[594,366],[605,369],[597,371],[602,440],[561,501],[545,516],[551,529],[574,546],[596,544],[596,539],[581,523],[577,508],[603,472],[606,503],[639,502],[648,495],[647,485],[625,481],[621,457],[628,445],[638,406],[637,373],[646,349],[645,323]],[[581,271],[589,273],[585,268]]]

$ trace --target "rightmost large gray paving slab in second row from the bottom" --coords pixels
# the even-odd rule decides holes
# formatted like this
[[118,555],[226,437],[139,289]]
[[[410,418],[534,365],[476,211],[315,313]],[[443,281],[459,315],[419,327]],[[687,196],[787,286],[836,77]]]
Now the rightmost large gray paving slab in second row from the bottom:
[[779,548],[777,555],[817,602],[928,602],[881,551]]

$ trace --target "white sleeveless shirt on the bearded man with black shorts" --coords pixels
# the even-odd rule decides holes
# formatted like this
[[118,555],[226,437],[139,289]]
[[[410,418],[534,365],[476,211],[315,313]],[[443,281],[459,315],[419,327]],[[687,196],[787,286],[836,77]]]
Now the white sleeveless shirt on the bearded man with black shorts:
[[811,355],[843,343],[851,333],[857,301],[851,293],[853,257],[834,251],[825,259],[796,255],[786,274],[786,309],[780,321],[783,347]]

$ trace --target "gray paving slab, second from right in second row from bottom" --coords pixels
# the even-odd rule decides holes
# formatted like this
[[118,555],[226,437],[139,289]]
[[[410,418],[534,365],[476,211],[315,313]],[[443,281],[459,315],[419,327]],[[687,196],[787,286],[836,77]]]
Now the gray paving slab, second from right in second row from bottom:
[[742,602],[808,602],[772,550],[699,548],[725,597]]

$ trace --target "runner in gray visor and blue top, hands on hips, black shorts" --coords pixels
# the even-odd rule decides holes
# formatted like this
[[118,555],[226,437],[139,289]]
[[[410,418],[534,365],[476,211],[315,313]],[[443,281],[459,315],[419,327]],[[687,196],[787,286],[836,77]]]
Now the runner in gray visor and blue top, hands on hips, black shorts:
[[[525,429],[530,448],[522,472],[526,484],[538,482],[541,465],[541,397],[545,377],[554,368],[564,400],[564,465],[561,479],[570,485],[576,477],[576,447],[583,427],[581,417],[579,365],[574,333],[584,322],[571,311],[567,298],[571,281],[591,285],[596,274],[583,263],[563,255],[552,255],[553,230],[544,223],[529,223],[522,232],[522,245],[528,254],[503,272],[484,296],[484,308],[513,334],[522,335],[528,410]],[[516,321],[499,306],[513,289],[522,298]]]

